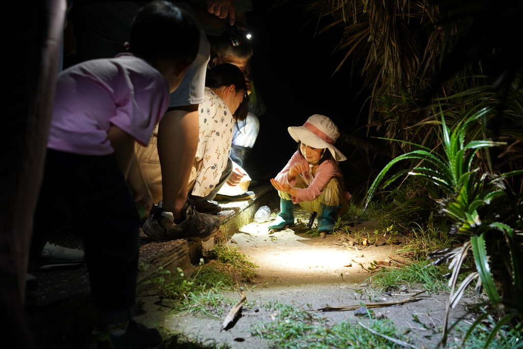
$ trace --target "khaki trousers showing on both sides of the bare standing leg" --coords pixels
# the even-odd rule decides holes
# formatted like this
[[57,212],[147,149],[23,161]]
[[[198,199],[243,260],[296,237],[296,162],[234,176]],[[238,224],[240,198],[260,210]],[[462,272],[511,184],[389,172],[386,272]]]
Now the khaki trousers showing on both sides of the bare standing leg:
[[[156,147],[157,137],[155,134],[151,137],[149,145],[142,147],[137,144],[135,147],[140,170],[142,170],[145,183],[149,186],[153,201],[158,202],[163,198],[162,191],[162,168],[160,167],[160,157],[158,156],[158,148]],[[190,193],[195,185],[196,174],[200,170],[201,161],[194,161],[189,175],[189,182],[187,185],[187,192]]]

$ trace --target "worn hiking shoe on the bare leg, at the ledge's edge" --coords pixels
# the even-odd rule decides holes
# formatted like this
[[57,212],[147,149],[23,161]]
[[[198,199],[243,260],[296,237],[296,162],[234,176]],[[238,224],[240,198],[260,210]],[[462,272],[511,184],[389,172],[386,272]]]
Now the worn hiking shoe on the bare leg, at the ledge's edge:
[[143,223],[143,232],[152,240],[207,241],[220,228],[218,217],[200,213],[192,205],[186,204],[181,214],[183,220],[175,223],[173,213],[164,211],[160,202],[154,214]]

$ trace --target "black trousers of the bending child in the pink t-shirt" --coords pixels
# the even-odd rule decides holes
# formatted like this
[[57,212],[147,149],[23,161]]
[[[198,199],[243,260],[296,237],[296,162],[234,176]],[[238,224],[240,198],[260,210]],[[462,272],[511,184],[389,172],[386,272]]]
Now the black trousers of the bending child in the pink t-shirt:
[[59,224],[56,205],[67,205],[84,239],[85,258],[101,325],[132,317],[138,276],[139,217],[113,155],[87,156],[49,149],[35,212],[31,254]]

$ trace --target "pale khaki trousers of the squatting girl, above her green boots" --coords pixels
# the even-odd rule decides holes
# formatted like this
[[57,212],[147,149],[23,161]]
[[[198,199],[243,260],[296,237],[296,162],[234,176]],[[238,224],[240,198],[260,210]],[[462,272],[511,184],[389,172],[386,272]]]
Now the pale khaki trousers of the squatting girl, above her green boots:
[[[303,181],[301,176],[296,176],[295,188],[306,188],[308,185]],[[285,200],[291,200],[291,195],[289,193],[278,192],[278,195]],[[340,213],[343,214],[347,208],[347,197],[345,196],[345,188],[342,181],[338,178],[332,178],[328,183],[325,189],[323,189],[322,194],[319,197],[312,201],[302,201],[298,203],[302,209],[307,212],[318,212],[318,216],[322,214],[322,208],[320,204],[325,206],[343,206]]]

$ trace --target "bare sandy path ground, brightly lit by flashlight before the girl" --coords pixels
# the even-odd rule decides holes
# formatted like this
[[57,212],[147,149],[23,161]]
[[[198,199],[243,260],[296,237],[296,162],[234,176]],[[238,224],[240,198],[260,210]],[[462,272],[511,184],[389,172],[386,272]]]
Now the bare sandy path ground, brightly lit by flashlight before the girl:
[[[247,300],[254,302],[259,311],[245,311],[232,329],[220,332],[221,320],[169,314],[165,308],[155,304],[155,297],[147,296],[142,298],[145,313],[138,320],[183,333],[203,343],[226,343],[233,348],[265,348],[269,347],[269,343],[252,336],[249,329],[253,323],[271,321],[271,314],[261,307],[269,300],[317,309],[326,305],[402,300],[417,291],[413,287],[404,290],[403,294],[379,294],[368,286],[367,279],[371,274],[357,264],[368,265],[373,260],[386,260],[390,253],[399,248],[397,245],[368,246],[356,250],[354,247],[334,245],[336,238],[333,235],[327,235],[324,239],[309,238],[292,229],[269,234],[268,224],[248,224],[230,241],[259,266],[255,284],[246,291]],[[372,222],[353,228],[358,229],[373,229]],[[226,296],[239,298],[235,292],[228,292]],[[408,335],[417,347],[434,347],[439,335],[430,336],[433,334],[431,331],[420,329],[420,325],[413,322],[412,314],[416,314],[430,328],[440,327],[445,302],[446,295],[427,295],[417,302],[378,308],[375,312],[394,321],[402,331],[411,330]],[[452,317],[458,317],[466,304],[467,300],[464,300],[453,310]],[[342,320],[356,322],[354,311],[320,314],[331,324]]]

